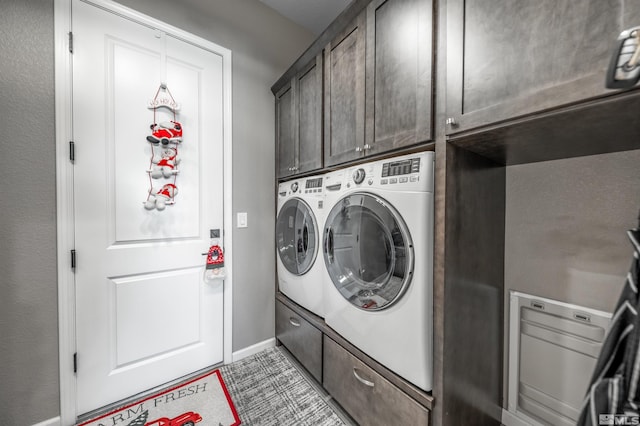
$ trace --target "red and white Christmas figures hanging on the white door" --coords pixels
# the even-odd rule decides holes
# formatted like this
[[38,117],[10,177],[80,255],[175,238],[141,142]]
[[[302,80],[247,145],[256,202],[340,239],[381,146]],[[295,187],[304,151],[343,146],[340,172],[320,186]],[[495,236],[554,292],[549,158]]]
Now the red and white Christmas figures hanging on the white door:
[[[153,110],[153,123],[149,126],[151,134],[146,138],[151,158],[147,169],[149,190],[144,208],[163,211],[166,206],[175,204],[175,197],[178,195],[178,146],[182,144],[182,124],[177,120],[180,105],[163,83],[147,107]],[[173,119],[158,122],[160,108],[168,109],[173,114]]]

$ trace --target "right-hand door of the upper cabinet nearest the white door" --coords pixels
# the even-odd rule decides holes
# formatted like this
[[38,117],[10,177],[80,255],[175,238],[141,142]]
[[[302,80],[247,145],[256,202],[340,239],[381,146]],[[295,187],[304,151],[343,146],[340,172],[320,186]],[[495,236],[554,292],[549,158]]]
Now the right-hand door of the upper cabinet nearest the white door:
[[322,54],[296,77],[298,170],[322,167]]

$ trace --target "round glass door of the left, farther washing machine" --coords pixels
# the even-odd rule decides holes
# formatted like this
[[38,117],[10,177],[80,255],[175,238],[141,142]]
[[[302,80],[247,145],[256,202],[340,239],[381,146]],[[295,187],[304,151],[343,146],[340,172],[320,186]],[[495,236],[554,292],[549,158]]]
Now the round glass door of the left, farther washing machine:
[[304,275],[313,266],[320,238],[314,214],[303,200],[291,198],[280,209],[276,245],[282,264],[292,274]]

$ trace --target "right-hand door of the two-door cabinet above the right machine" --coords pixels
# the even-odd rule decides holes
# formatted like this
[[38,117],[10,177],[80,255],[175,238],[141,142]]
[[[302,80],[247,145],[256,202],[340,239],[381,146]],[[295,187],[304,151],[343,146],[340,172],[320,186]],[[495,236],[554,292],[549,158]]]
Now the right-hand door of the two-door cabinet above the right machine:
[[430,0],[367,6],[366,154],[431,140]]

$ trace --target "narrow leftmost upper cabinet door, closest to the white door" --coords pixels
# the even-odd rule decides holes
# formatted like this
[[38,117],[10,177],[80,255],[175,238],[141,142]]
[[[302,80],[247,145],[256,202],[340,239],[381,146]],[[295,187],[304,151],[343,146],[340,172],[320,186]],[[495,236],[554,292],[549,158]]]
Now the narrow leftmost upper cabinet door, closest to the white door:
[[291,84],[276,94],[276,143],[278,145],[277,173],[285,177],[294,173],[297,158],[295,140],[294,91]]

